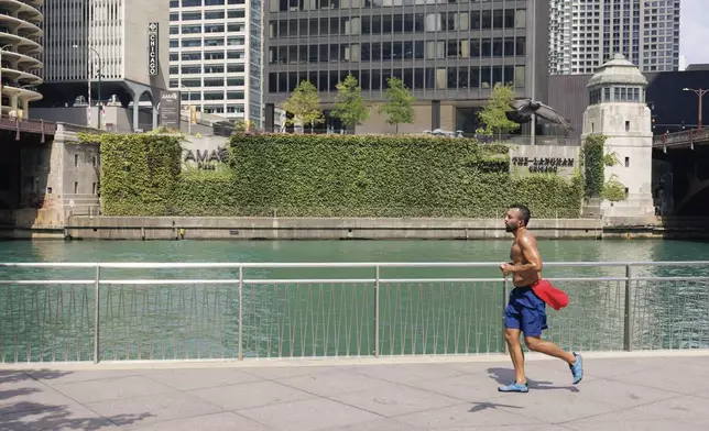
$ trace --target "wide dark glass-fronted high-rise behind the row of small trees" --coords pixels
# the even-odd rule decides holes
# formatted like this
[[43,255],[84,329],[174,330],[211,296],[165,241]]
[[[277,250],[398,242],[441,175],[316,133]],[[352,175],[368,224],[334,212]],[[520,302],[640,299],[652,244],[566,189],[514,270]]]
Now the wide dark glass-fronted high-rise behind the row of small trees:
[[[354,76],[371,104],[388,78],[417,99],[414,124],[400,130],[473,132],[476,109],[497,82],[543,100],[547,87],[548,2],[533,0],[274,0],[266,31],[266,130],[303,80],[318,89],[330,119],[336,86]],[[307,128],[307,125],[306,125]],[[377,110],[358,132],[392,131]]]

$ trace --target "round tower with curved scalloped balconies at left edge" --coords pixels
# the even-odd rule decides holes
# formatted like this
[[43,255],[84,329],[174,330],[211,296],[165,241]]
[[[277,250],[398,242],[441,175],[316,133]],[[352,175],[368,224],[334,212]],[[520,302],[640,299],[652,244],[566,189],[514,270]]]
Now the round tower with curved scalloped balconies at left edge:
[[42,99],[42,4],[44,0],[0,0],[0,100],[2,114],[25,117]]

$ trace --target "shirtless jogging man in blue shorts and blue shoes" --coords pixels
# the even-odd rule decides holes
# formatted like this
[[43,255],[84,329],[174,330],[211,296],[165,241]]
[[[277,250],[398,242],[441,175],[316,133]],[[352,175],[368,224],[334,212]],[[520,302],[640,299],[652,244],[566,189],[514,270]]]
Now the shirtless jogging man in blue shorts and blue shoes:
[[546,303],[532,290],[532,285],[542,279],[542,256],[534,235],[527,231],[530,209],[522,205],[510,207],[504,216],[508,232],[514,234],[514,243],[510,252],[511,263],[500,265],[502,274],[512,275],[514,289],[510,292],[510,302],[504,310],[504,340],[512,356],[515,382],[500,386],[503,393],[527,393],[524,374],[524,353],[520,344],[520,332],[524,333],[524,343],[533,352],[541,352],[558,357],[569,364],[574,375],[574,384],[581,382],[583,367],[581,356],[567,353],[549,341],[542,341],[542,331],[546,325]]

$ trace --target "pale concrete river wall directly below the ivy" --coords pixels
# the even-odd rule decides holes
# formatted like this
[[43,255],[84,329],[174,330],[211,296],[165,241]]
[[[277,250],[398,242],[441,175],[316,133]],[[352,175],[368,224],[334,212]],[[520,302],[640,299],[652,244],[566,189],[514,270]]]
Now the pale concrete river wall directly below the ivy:
[[[539,219],[539,237],[602,234],[600,219]],[[83,240],[490,240],[509,237],[502,219],[72,217],[65,235]]]

